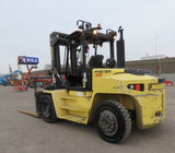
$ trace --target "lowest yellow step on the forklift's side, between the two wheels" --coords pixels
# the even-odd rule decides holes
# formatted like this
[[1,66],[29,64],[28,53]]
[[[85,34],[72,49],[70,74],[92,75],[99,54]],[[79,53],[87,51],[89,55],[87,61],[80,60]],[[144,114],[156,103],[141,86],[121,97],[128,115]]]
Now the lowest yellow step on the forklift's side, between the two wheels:
[[86,117],[80,117],[80,116],[67,114],[67,115],[60,115],[59,118],[67,119],[70,121],[75,121],[79,123],[86,123]]

